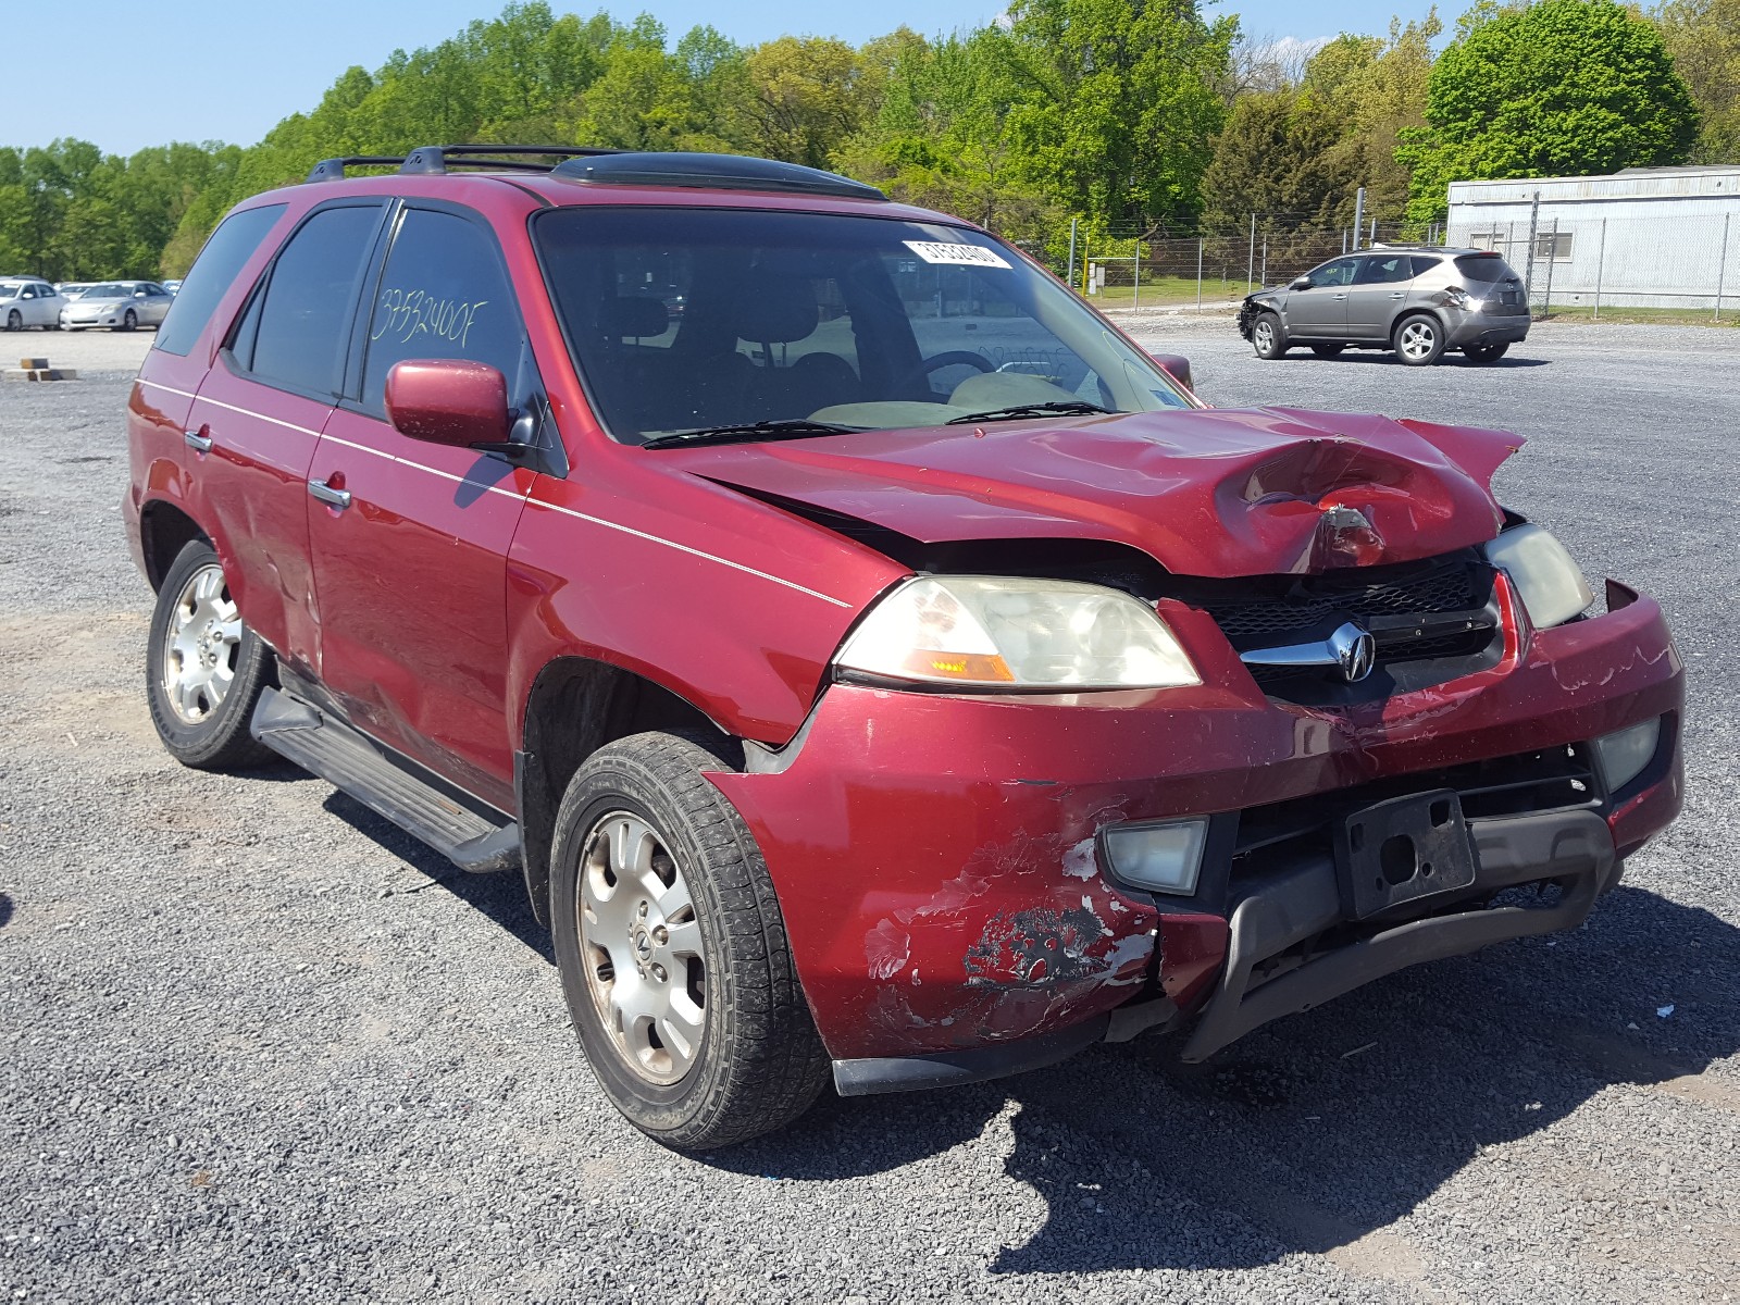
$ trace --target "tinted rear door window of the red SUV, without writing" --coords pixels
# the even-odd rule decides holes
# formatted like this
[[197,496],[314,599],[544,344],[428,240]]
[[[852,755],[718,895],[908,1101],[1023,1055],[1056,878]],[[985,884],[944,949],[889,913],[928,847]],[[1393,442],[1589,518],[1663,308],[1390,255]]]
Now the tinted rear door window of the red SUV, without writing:
[[245,358],[256,379],[338,393],[357,282],[379,219],[376,204],[322,209],[289,238],[258,296],[252,357]]

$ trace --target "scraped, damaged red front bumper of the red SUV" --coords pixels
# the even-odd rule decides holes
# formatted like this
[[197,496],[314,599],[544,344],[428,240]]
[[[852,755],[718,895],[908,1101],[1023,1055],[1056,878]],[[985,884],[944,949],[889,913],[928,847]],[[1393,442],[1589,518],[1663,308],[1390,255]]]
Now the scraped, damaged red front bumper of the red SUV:
[[[1679,658],[1653,600],[1610,585],[1608,607],[1521,632],[1496,666],[1338,708],[1265,698],[1188,621],[1192,689],[835,684],[792,745],[713,781],[767,860],[842,1093],[999,1077],[1192,1020],[1199,1058],[1380,974],[1587,915],[1681,800]],[[1656,755],[1608,792],[1590,741],[1650,719]],[[1439,790],[1467,809],[1467,882],[1355,910],[1324,830]],[[1107,828],[1190,816],[1209,820],[1190,898],[1110,875]],[[1522,884],[1556,894],[1493,905]]]

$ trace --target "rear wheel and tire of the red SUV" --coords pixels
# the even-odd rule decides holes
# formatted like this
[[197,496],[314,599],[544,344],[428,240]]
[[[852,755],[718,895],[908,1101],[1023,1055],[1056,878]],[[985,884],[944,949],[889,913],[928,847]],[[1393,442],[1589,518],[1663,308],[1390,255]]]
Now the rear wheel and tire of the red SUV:
[[242,623],[218,553],[195,539],[164,576],[144,654],[144,696],[164,746],[197,771],[273,757],[247,733],[273,675],[271,649]]

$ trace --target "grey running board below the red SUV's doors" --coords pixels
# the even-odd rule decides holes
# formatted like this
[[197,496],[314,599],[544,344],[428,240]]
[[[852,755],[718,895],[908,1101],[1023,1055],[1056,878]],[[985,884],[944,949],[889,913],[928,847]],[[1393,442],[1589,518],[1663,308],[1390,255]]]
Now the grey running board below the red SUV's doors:
[[[461,870],[491,873],[520,865],[520,826],[451,785],[412,773],[367,734],[282,689],[259,696],[249,733],[285,760],[421,839]],[[423,767],[416,767],[423,771]]]

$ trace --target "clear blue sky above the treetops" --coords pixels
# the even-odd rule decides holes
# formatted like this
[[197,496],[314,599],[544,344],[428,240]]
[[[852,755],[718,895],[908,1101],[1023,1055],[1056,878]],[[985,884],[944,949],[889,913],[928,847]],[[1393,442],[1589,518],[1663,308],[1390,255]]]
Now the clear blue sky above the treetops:
[[[1255,37],[1308,40],[1348,30],[1383,33],[1404,2],[1220,0],[1209,12],[1239,14]],[[552,7],[581,14],[602,7],[621,21],[646,9],[673,37],[712,23],[743,44],[786,31],[861,44],[901,23],[926,35],[981,26],[1004,3],[552,0]],[[77,136],[125,155],[169,141],[252,144],[280,118],[313,108],[350,64],[378,68],[395,47],[433,45],[475,17],[501,12],[501,0],[61,0],[7,9],[5,49],[12,57],[0,71],[0,144]],[[1404,17],[1423,12],[1425,3],[1402,9]]]

